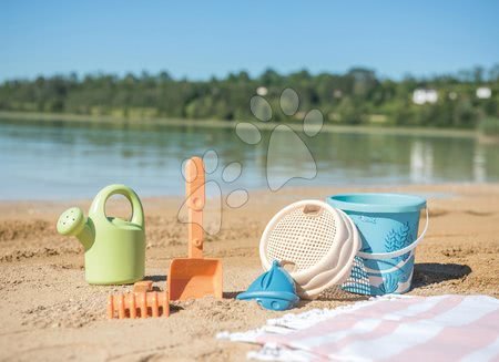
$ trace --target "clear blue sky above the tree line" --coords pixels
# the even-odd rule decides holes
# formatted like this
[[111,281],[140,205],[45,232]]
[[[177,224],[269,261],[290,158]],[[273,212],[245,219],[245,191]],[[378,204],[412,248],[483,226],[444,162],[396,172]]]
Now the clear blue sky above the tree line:
[[75,71],[207,79],[431,75],[499,62],[499,1],[24,1],[0,3],[0,81]]

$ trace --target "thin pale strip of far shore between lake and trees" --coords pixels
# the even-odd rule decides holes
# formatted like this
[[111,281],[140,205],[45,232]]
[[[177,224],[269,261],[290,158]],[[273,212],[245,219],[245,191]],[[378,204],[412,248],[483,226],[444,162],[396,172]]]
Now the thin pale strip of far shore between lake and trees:
[[[81,114],[62,114],[62,113],[35,113],[35,112],[7,112],[0,111],[0,122],[16,121],[24,124],[53,124],[64,123],[72,125],[92,125],[92,126],[123,126],[128,127],[167,127],[167,126],[186,126],[186,127],[212,127],[212,128],[234,128],[241,122],[257,123],[261,130],[273,130],[279,123],[254,122],[256,120],[242,121],[220,121],[220,120],[183,120],[183,118],[157,118],[157,117],[115,117],[105,115],[81,115]],[[301,132],[302,123],[294,121],[287,123],[293,130]],[[397,126],[353,126],[353,125],[335,125],[325,124],[322,132],[335,133],[363,133],[363,134],[391,134],[391,135],[414,135],[428,137],[464,137],[472,138],[478,136],[475,130],[449,130],[436,127],[397,127]]]

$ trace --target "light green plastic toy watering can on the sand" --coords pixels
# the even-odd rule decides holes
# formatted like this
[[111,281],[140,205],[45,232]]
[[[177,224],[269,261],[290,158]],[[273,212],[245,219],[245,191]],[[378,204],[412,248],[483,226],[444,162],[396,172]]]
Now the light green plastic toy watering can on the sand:
[[[130,221],[105,215],[112,195],[132,204]],[[144,213],[139,196],[124,185],[104,187],[93,199],[89,217],[72,207],[59,218],[58,231],[75,236],[85,249],[85,279],[91,285],[128,285],[144,278]]]

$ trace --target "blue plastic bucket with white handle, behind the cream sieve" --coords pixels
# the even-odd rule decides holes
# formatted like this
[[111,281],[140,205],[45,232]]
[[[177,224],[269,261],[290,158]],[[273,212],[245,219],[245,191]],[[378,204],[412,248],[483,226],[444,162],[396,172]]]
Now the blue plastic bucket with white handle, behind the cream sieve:
[[[347,214],[361,239],[346,291],[383,296],[410,290],[416,246],[428,228],[426,200],[401,194],[340,194],[327,198]],[[418,237],[419,214],[426,208],[426,226]]]

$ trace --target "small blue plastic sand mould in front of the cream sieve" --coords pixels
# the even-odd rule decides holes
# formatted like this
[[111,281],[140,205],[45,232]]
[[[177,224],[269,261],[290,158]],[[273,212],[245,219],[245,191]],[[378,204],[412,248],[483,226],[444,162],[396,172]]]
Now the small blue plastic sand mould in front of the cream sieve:
[[286,310],[293,308],[299,300],[293,278],[277,260],[274,260],[272,268],[261,275],[236,299],[256,300],[259,306],[269,310]]

